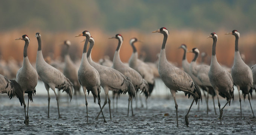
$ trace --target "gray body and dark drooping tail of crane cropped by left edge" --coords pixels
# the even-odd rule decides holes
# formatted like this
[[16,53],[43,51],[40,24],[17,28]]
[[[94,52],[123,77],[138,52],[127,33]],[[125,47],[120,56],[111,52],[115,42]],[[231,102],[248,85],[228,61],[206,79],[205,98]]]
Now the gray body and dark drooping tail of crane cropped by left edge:
[[0,93],[7,93],[10,99],[17,96],[20,101],[20,105],[24,103],[23,90],[15,80],[8,80],[0,74]]

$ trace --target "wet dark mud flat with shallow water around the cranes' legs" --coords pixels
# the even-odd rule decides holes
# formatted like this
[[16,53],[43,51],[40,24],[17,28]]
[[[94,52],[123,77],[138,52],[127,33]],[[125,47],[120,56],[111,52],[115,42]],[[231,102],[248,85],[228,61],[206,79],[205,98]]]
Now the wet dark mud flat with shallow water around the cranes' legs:
[[[255,93],[254,95],[255,96]],[[230,106],[226,106],[222,115],[222,124],[218,119],[219,109],[215,99],[217,115],[213,110],[212,99],[209,99],[210,112],[206,114],[206,104],[200,102],[200,111],[195,104],[189,113],[189,127],[186,127],[184,116],[189,109],[192,98],[177,97],[179,127],[176,127],[175,104],[172,98],[155,96],[148,99],[148,109],[135,107],[134,115],[127,117],[128,96],[121,95],[118,99],[118,110],[112,111],[110,120],[108,104],[103,113],[107,123],[103,123],[102,115],[95,120],[99,105],[93,103],[92,96],[88,100],[88,122],[86,122],[85,98],[74,96],[70,103],[66,96],[60,98],[61,117],[58,118],[58,110],[54,96],[51,96],[50,118],[47,118],[47,96],[35,95],[34,103],[29,104],[29,125],[23,124],[24,108],[19,105],[18,99],[9,100],[7,95],[0,96],[0,134],[256,134],[256,118],[252,118],[251,108],[247,99],[242,101],[242,119],[240,118],[240,105],[238,97]],[[27,104],[27,96],[26,96]],[[111,98],[112,99],[112,98]],[[144,99],[144,98],[143,98]],[[105,97],[101,96],[104,103]],[[221,107],[226,99],[221,98]],[[256,112],[256,100],[251,101]],[[111,101],[111,106],[113,100]],[[111,107],[112,108],[112,107]]]

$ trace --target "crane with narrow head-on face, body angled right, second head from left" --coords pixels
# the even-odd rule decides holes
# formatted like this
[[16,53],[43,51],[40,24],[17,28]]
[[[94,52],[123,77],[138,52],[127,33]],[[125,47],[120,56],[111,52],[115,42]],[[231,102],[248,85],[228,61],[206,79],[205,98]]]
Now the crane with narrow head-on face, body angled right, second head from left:
[[42,54],[42,47],[41,47],[41,34],[36,33],[35,37],[37,37],[37,42],[38,42],[36,69],[48,93],[48,116],[47,117],[48,118],[50,117],[49,116],[49,110],[50,110],[49,89],[51,88],[55,94],[57,107],[58,107],[58,115],[59,115],[59,118],[61,118],[61,115],[59,113],[59,98],[55,92],[55,88],[57,88],[58,90],[63,90],[63,92],[66,92],[70,96],[70,101],[71,101],[72,93],[73,93],[72,91],[73,84],[67,77],[65,77],[65,75],[62,74],[61,71],[59,71],[58,69],[54,68],[53,66],[45,62]]

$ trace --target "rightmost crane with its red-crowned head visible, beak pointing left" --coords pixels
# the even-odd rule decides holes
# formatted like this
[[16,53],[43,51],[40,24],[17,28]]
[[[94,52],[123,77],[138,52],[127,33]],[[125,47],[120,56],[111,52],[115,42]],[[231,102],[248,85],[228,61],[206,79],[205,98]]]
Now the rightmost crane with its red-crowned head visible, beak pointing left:
[[[240,37],[240,33],[237,30],[233,30],[230,33],[226,34],[232,34],[236,37],[235,39],[235,58],[234,58],[234,64],[231,70],[231,75],[234,80],[235,86],[237,87],[238,94],[239,94],[239,102],[240,102],[240,115],[242,118],[242,107],[241,107],[241,97],[240,97],[240,90],[242,90],[242,95],[245,96],[248,95],[248,100],[251,106],[250,101],[250,95],[252,96],[253,91],[253,74],[251,72],[251,69],[248,65],[244,63],[244,61],[241,58],[240,52],[238,50],[238,39]],[[252,97],[251,97],[252,98]],[[253,108],[251,108],[251,111],[253,113]],[[254,113],[253,113],[254,118]]]

